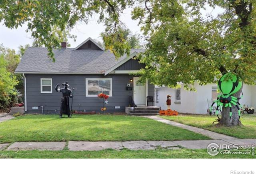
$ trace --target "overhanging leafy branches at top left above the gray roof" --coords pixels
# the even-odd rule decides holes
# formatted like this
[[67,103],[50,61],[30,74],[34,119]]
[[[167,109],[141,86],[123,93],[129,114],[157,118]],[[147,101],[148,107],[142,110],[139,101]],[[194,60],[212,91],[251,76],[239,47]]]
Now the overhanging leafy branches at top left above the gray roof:
[[116,57],[130,53],[130,46],[124,40],[125,25],[119,20],[120,14],[133,1],[0,1],[0,22],[8,28],[18,28],[25,22],[27,32],[48,49],[48,56],[54,59],[53,48],[60,48],[61,40],[52,28],[60,31],[73,28],[76,22],[88,23],[93,14],[100,14],[99,23],[105,24],[103,40],[106,49]]

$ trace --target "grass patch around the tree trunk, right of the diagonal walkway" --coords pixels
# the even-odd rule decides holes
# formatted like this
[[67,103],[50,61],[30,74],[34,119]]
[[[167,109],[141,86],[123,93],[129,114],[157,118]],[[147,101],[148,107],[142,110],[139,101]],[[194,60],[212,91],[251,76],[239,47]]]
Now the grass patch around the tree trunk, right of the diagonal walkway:
[[[187,124],[190,126],[195,126],[198,128],[203,128],[218,132],[221,134],[226,134],[229,136],[237,138],[256,138],[256,116],[244,114],[241,116],[240,120],[244,126],[241,127],[225,127],[225,126],[215,126],[212,122],[217,119],[217,116],[202,116],[202,115],[179,115],[179,116],[161,116],[162,118],[172,120],[174,122],[179,122],[182,124]],[[216,122],[215,122],[216,124]]]

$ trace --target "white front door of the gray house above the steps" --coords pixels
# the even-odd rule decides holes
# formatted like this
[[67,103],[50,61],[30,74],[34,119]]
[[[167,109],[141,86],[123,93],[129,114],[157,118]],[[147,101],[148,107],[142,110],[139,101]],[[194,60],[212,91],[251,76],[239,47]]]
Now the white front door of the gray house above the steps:
[[146,105],[146,84],[140,83],[139,77],[133,78],[133,98],[136,105]]

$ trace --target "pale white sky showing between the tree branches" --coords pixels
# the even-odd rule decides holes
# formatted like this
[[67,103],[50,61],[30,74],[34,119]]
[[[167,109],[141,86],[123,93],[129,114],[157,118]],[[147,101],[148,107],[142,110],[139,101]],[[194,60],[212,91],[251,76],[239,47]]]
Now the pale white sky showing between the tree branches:
[[[202,10],[201,13],[203,16],[207,14],[212,14],[212,16],[216,17],[218,13],[223,10],[220,8],[216,8],[212,10],[209,6],[206,6],[206,10]],[[72,29],[70,34],[74,34],[77,36],[76,42],[73,39],[68,39],[70,43],[70,48],[75,48],[88,37],[92,39],[101,40],[100,33],[104,31],[104,24],[97,23],[97,14],[90,18],[88,24],[84,24],[82,22],[77,22],[76,26]],[[140,34],[140,26],[138,26],[138,20],[132,20],[131,18],[131,9],[128,8],[124,10],[124,13],[120,16],[120,20],[126,24],[126,26],[132,31],[133,34]],[[26,32],[27,25],[24,24],[22,27],[18,27],[17,29],[9,29],[3,25],[3,22],[0,22],[0,44],[3,44],[6,48],[12,48],[18,51],[18,46],[30,44],[32,45],[33,39],[31,37],[31,32]]]

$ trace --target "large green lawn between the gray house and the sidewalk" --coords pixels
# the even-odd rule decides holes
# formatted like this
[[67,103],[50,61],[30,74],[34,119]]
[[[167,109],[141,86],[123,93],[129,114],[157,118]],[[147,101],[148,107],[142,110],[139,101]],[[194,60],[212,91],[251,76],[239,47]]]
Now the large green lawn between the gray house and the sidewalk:
[[210,139],[182,128],[136,116],[26,115],[0,123],[0,143]]

